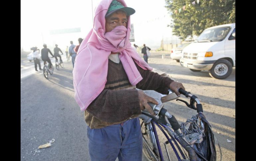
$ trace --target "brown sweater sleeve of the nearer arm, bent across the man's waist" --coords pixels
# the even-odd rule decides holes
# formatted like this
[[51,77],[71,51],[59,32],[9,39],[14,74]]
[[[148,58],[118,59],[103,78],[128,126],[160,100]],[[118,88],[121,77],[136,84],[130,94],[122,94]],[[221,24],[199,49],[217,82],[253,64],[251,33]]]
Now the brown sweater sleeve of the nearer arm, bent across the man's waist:
[[141,114],[138,91],[105,89],[86,110],[101,121],[124,121]]

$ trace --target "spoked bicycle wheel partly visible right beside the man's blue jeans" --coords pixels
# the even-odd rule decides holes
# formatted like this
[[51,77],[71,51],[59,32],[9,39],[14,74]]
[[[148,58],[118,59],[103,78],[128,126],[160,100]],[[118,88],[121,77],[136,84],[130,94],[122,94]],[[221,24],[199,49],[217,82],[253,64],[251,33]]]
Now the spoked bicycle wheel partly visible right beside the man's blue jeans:
[[[150,139],[150,134],[149,131],[145,125],[145,123],[140,119],[141,123],[141,132],[142,132],[142,137],[143,137],[143,149],[142,152],[144,154],[143,161],[159,161],[158,157],[158,149],[154,148],[151,139]],[[149,123],[151,124],[151,123]]]

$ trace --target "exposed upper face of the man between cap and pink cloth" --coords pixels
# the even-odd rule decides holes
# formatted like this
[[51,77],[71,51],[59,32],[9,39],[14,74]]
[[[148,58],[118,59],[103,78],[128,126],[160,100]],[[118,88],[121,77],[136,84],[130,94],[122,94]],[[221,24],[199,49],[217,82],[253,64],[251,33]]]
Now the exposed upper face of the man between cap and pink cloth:
[[116,11],[106,17],[105,29],[106,33],[112,31],[117,26],[125,26],[127,28],[127,16],[123,11]]

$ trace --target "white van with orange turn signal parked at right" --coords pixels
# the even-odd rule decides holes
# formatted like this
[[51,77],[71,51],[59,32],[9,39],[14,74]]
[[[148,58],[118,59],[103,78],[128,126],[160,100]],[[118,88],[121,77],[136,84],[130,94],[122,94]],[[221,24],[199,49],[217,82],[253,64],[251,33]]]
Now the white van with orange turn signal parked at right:
[[180,63],[194,72],[209,70],[213,78],[227,78],[235,67],[235,23],[205,29],[183,49]]

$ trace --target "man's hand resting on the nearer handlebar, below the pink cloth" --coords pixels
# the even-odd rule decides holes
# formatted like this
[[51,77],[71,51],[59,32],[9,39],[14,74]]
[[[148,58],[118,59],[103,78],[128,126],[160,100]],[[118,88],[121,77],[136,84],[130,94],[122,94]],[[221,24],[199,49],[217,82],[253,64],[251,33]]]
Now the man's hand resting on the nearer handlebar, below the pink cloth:
[[140,109],[144,110],[146,109],[152,116],[155,116],[155,112],[152,109],[152,107],[148,104],[148,102],[158,105],[158,102],[152,98],[146,95],[142,90],[138,91],[139,93],[139,102],[140,102]]

